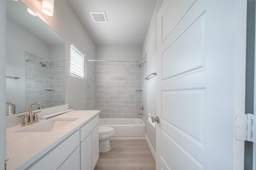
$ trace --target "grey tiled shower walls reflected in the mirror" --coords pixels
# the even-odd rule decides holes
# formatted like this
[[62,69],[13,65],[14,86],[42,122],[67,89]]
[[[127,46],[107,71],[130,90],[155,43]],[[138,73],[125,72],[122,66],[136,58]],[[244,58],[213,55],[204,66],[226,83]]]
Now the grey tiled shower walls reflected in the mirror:
[[[44,108],[65,104],[65,61],[45,60],[25,52],[26,62],[26,111],[31,103],[38,102]],[[54,89],[54,90],[53,90]],[[34,106],[36,109],[38,106]]]

